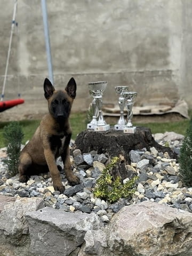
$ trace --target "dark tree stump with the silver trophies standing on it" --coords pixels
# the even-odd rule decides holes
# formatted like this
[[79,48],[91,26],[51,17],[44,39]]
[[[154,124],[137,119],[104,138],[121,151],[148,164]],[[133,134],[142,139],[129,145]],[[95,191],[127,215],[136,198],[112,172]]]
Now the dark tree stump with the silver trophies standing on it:
[[153,138],[151,131],[147,127],[137,127],[134,134],[123,133],[110,129],[106,132],[83,131],[78,134],[75,140],[75,148],[83,153],[90,153],[96,150],[98,154],[106,154],[109,159],[120,156],[122,163],[114,170],[114,176],[119,175],[122,179],[127,177],[126,165],[130,164],[130,150],[137,150],[155,147],[157,151],[169,153],[171,158],[177,158],[177,155],[169,147],[159,145]]

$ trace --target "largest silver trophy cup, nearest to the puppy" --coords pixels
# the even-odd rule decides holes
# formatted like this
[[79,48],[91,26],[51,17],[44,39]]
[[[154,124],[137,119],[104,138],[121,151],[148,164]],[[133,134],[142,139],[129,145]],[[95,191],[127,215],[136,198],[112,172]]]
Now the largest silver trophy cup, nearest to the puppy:
[[[94,131],[108,131],[110,125],[106,123],[102,115],[102,94],[105,91],[107,86],[107,81],[102,82],[91,82],[88,84],[90,95],[93,97],[92,109],[93,117],[92,121],[87,124],[87,129],[92,129]],[[97,112],[98,117],[97,117]]]

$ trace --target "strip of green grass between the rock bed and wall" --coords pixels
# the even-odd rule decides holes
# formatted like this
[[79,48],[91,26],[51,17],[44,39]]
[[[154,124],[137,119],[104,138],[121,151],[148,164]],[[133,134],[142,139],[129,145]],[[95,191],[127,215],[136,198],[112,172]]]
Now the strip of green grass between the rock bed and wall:
[[[192,111],[189,112],[190,117],[192,117]],[[25,120],[19,122],[22,126],[23,133],[25,134],[22,143],[25,143],[29,140],[37,129],[40,121],[39,120]],[[9,122],[0,122],[0,148],[4,147],[3,141],[3,127],[9,124]],[[72,139],[75,140],[77,134],[86,129],[86,113],[73,113],[70,116],[70,124],[73,129]],[[170,123],[147,123],[147,124],[137,124],[138,126],[149,127],[151,132],[154,133],[164,133],[164,132],[176,132],[185,135],[186,129],[188,127],[189,120],[183,119],[178,122]]]

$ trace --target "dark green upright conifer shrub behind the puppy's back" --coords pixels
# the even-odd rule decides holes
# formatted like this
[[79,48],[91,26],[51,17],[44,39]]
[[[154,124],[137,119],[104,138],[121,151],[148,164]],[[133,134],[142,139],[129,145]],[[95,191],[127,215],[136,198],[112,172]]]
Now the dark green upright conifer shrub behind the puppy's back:
[[7,159],[4,160],[10,177],[18,173],[19,155],[23,132],[18,122],[12,122],[3,129],[5,146],[7,147]]

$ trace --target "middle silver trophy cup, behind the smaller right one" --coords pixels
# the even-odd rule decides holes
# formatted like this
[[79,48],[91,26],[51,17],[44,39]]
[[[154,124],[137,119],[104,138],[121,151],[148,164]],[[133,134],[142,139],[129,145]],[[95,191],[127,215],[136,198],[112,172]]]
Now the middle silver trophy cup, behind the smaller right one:
[[116,86],[115,87],[115,92],[117,94],[120,94],[119,98],[118,98],[120,117],[119,117],[117,124],[115,124],[115,126],[114,126],[115,130],[124,130],[124,128],[126,126],[126,121],[124,118],[125,98],[123,97],[123,92],[127,92],[128,90],[129,90],[128,86]]

